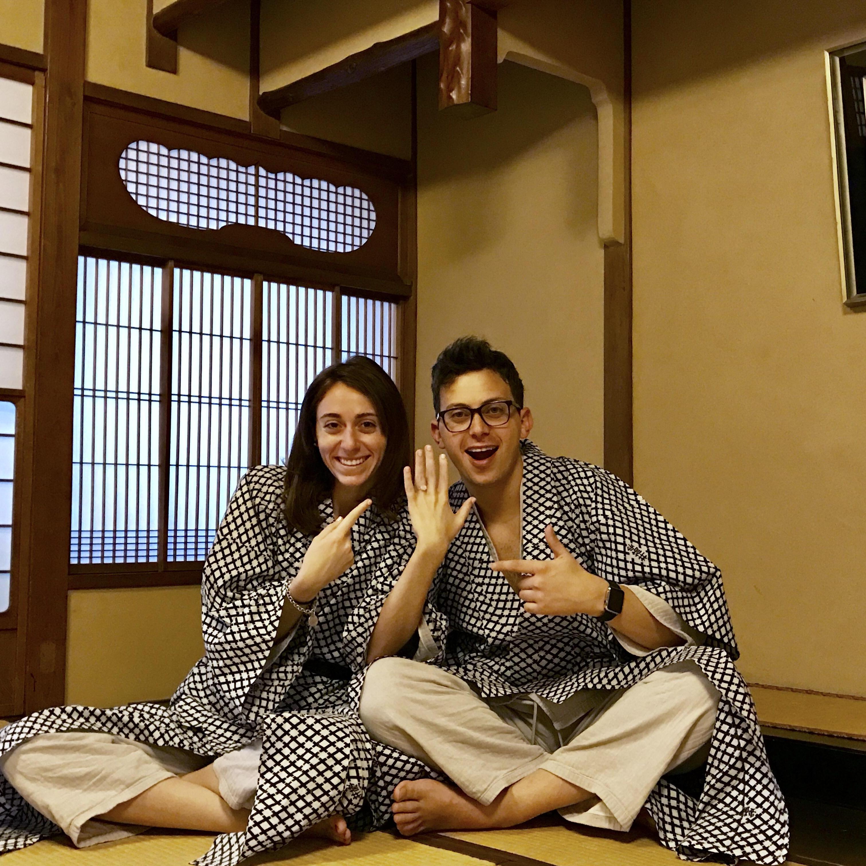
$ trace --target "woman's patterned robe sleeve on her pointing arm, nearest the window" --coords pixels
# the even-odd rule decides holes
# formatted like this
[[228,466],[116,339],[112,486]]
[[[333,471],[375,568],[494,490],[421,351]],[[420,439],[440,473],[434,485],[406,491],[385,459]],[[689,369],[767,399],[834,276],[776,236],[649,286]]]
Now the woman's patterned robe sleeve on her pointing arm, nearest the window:
[[256,467],[243,476],[204,563],[205,657],[237,704],[268,663],[286,586],[301,565],[290,550],[275,554],[283,471]]

